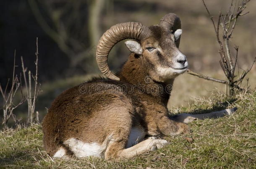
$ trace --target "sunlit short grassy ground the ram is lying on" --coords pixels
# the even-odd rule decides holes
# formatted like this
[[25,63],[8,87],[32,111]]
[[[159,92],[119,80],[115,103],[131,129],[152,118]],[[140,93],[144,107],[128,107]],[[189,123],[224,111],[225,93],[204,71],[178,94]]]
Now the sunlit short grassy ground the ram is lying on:
[[237,106],[231,117],[194,121],[185,136],[169,136],[169,145],[130,160],[99,158],[54,159],[42,147],[42,127],[0,133],[0,168],[256,168],[256,91],[225,100],[214,92],[207,100],[172,110],[174,113],[210,112]]

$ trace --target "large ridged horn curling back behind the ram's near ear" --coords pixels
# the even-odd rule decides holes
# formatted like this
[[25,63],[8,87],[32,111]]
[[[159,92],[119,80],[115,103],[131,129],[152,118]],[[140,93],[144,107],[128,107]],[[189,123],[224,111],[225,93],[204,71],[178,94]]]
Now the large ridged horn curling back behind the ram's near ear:
[[112,80],[120,81],[108,67],[107,58],[112,47],[124,39],[134,39],[141,41],[150,33],[148,27],[136,22],[119,23],[107,30],[99,40],[96,49],[96,60],[99,70]]

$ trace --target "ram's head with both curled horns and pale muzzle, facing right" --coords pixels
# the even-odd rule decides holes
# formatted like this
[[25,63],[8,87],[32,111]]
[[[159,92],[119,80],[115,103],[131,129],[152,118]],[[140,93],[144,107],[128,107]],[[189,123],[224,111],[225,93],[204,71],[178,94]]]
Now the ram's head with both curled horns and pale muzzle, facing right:
[[147,73],[155,81],[165,82],[184,73],[188,68],[186,56],[178,49],[182,33],[177,15],[165,15],[159,25],[146,27],[141,23],[128,22],[112,26],[99,40],[96,58],[100,71],[112,80],[120,80],[111,73],[107,57],[112,47],[121,40],[147,67]]

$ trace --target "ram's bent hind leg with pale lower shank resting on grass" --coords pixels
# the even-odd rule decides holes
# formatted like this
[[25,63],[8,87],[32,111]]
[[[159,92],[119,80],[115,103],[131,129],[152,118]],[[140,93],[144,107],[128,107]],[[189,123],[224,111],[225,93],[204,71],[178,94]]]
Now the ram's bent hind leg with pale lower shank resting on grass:
[[133,120],[134,115],[131,113],[129,104],[120,105],[121,102],[115,104],[115,108],[108,111],[107,121],[111,131],[111,139],[104,154],[105,159],[131,158],[167,144],[167,141],[162,139],[146,139],[125,149],[132,126],[136,121]]

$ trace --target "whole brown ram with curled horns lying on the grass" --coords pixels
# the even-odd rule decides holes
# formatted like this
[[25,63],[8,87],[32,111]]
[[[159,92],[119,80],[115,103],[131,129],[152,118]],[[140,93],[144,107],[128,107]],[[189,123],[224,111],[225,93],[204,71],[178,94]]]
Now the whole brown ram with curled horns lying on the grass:
[[[178,16],[169,13],[158,25],[128,22],[107,30],[97,45],[96,58],[109,79],[75,86],[53,101],[42,124],[47,153],[53,157],[131,158],[167,144],[160,136],[188,133],[187,123],[195,119],[232,114],[235,108],[168,117],[173,81],[188,68],[186,56],[178,49],[180,28]],[[131,54],[114,75],[107,57],[124,39],[133,39],[125,42]]]

